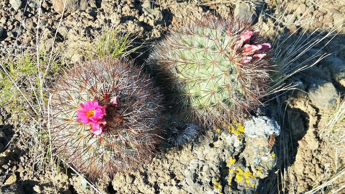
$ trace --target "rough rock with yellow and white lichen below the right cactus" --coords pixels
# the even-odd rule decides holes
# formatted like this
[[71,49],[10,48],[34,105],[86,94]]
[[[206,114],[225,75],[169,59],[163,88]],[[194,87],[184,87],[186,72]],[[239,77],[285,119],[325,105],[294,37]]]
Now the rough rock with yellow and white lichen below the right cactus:
[[[255,130],[254,130],[255,129]],[[265,116],[250,118],[244,124],[233,121],[206,132],[193,151],[184,185],[189,193],[266,193],[269,176],[275,169],[277,122]]]

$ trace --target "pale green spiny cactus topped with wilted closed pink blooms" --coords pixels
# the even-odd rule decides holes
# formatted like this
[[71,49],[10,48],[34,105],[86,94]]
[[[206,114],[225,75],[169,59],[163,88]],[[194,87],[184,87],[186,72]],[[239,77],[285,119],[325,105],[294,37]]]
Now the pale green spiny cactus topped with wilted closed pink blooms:
[[260,104],[269,88],[270,47],[246,20],[206,15],[170,32],[148,63],[175,113],[212,126]]

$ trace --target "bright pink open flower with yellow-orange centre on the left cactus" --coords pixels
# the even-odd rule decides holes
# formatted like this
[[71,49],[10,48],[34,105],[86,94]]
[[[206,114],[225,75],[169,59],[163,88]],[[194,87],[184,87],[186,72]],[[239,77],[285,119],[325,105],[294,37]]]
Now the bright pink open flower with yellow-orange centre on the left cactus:
[[91,132],[95,135],[102,133],[103,127],[107,122],[103,119],[106,116],[106,107],[99,106],[97,100],[90,100],[80,104],[77,110],[77,121],[83,122],[85,125],[91,125]]

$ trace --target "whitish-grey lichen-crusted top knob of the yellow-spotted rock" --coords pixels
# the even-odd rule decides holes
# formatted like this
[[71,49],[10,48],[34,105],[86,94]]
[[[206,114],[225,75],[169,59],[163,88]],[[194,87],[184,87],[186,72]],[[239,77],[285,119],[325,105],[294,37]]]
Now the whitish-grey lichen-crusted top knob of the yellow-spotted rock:
[[248,137],[265,136],[267,139],[269,135],[278,136],[280,134],[280,126],[278,123],[266,116],[253,117],[253,119],[244,122],[244,134]]

